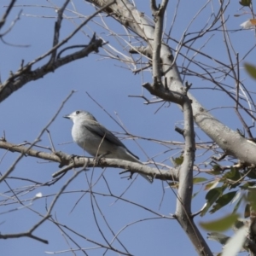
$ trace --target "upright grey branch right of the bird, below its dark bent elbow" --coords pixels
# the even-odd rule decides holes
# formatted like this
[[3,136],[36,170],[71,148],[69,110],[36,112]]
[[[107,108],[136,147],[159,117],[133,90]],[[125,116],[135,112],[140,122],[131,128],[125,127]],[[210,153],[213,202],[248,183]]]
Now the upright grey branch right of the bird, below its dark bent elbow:
[[163,86],[154,86],[150,84],[143,84],[154,96],[168,101],[175,102],[182,106],[184,116],[184,130],[183,137],[185,139],[185,147],[183,154],[183,164],[178,171],[179,184],[177,190],[177,208],[175,217],[179,224],[186,230],[190,241],[195,246],[199,255],[212,255],[207,242],[201,236],[201,232],[197,229],[194,219],[191,215],[191,198],[193,191],[193,166],[195,160],[195,132],[194,121],[191,102],[184,94],[181,95],[171,90],[165,90]]

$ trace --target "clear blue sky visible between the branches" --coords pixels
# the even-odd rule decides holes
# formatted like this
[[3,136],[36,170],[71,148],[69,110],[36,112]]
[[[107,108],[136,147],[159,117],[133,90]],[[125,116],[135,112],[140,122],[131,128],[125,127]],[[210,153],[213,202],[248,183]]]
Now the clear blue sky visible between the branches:
[[[61,4],[63,1],[55,1],[52,3]],[[173,35],[177,40],[182,37],[184,29],[188,26],[190,20],[195,16],[196,12],[203,6],[206,1],[199,1],[200,3],[191,3],[189,8],[185,8],[186,5],[182,1],[180,9],[178,9],[176,26],[173,27]],[[1,3],[0,15],[3,14],[9,1],[3,0]],[[32,4],[33,6],[25,6]],[[52,44],[53,28],[55,23],[55,10],[52,8],[43,8],[42,6],[51,6],[48,1],[37,1],[37,6],[34,6],[34,1],[17,1],[17,7],[13,9],[9,16],[7,25],[14,19],[15,15],[20,9],[23,9],[20,20],[15,24],[15,27],[4,38],[10,44],[17,44],[20,46],[10,46],[1,43],[1,61],[0,61],[0,73],[2,82],[9,77],[9,72],[15,72],[20,67],[20,61],[23,59],[26,62],[32,61],[38,55],[43,55]],[[74,3],[77,12],[83,15],[90,15],[93,9],[89,4],[84,1],[77,1]],[[138,9],[144,11],[148,16],[150,15],[149,3],[138,3]],[[171,4],[171,3],[170,3]],[[187,3],[186,3],[187,4]],[[70,4],[69,9],[73,9]],[[217,8],[217,3],[213,1],[213,8]],[[237,29],[239,24],[244,20],[247,20],[248,16],[234,18],[239,12],[240,6],[237,3],[230,5],[230,20],[227,25],[230,29]],[[189,29],[191,31],[199,31],[203,22],[207,22],[210,13],[210,7],[207,6],[208,11],[202,12],[201,16],[196,19],[195,23],[191,25]],[[169,6],[168,14],[166,16],[166,29],[171,24],[173,6]],[[35,16],[32,16],[35,15]],[[74,14],[67,13],[71,16]],[[168,20],[169,19],[169,20]],[[72,20],[64,20],[61,27],[61,38],[65,38],[75,28]],[[79,19],[75,19],[75,22],[79,23]],[[94,21],[98,21],[94,19]],[[114,32],[122,32],[119,24],[110,18],[107,19]],[[68,44],[87,44],[89,38],[92,35],[92,31],[96,30],[106,41],[115,47],[122,47],[114,41],[114,37],[110,36],[108,32],[96,26],[96,23],[90,23],[84,27],[83,32],[79,32],[78,35]],[[237,52],[242,52],[243,49],[253,44],[253,32],[242,31],[239,33],[231,33],[231,38],[234,38],[234,44]],[[243,37],[247,40],[244,42]],[[195,44],[195,48],[199,48],[206,42],[210,36],[199,41]],[[224,45],[221,44],[223,38],[220,32],[216,32],[210,43],[205,47],[205,52],[209,55],[213,55],[215,58],[221,59],[227,62],[227,56],[225,55]],[[172,47],[176,47],[173,42]],[[29,47],[22,47],[21,45],[29,45]],[[108,49],[108,46],[106,46]],[[71,90],[76,90],[73,96],[65,104],[61,110],[61,114],[55,119],[54,123],[50,125],[49,131],[55,144],[56,150],[63,151],[67,154],[79,154],[83,155],[84,152],[75,143],[72,142],[71,127],[72,123],[63,119],[67,113],[71,113],[77,109],[84,109],[93,113],[96,119],[105,125],[110,131],[116,131],[124,133],[120,125],[117,125],[113,119],[109,118],[108,114],[102,111],[95,102],[86,94],[89,93],[91,97],[95,99],[108,113],[110,113],[114,119],[120,120],[125,126],[125,129],[131,134],[137,137],[155,138],[158,140],[176,141],[183,143],[183,138],[179,136],[175,131],[175,125],[182,127],[183,114],[174,104],[165,104],[160,108],[159,104],[144,104],[142,98],[130,97],[144,95],[151,99],[151,96],[147,91],[142,89],[141,84],[143,82],[151,82],[151,73],[146,71],[141,74],[134,75],[131,70],[126,68],[125,64],[119,61],[113,61],[103,57],[103,49],[100,49],[100,55],[91,54],[87,58],[79,61],[74,61],[64,67],[57,69],[54,73],[49,73],[42,79],[32,81],[26,84],[20,90],[15,91],[7,100],[1,103],[0,108],[0,134],[2,137],[3,131],[5,131],[6,139],[10,143],[23,143],[24,141],[33,142],[38,137],[39,132],[49,122],[49,119],[53,117],[56,110],[60,108],[61,102],[67,97]],[[190,55],[190,52],[189,54]],[[252,53],[253,56],[253,53]],[[247,61],[253,61],[251,55],[247,56]],[[192,54],[191,54],[192,57]],[[201,57],[198,57],[201,60]],[[204,61],[202,59],[202,61]],[[38,65],[44,64],[44,61],[38,63]],[[183,57],[177,58],[178,65],[182,65]],[[38,67],[38,66],[36,66]],[[244,78],[248,86],[253,87],[253,80],[248,79],[245,74]],[[212,90],[198,90],[201,87],[205,87],[207,82],[202,81],[200,78],[187,77],[189,82],[193,83],[192,93],[198,97],[199,101],[205,105],[207,109],[216,108],[219,106],[234,106],[234,102],[224,94],[220,94]],[[185,80],[186,80],[185,79]],[[245,82],[245,83],[246,83]],[[234,86],[235,82],[230,80],[230,85]],[[249,87],[250,88],[250,87]],[[160,110],[158,110],[160,108]],[[157,111],[158,110],[158,111]],[[235,112],[231,108],[223,108],[220,110],[212,111],[218,119],[224,121],[226,125],[229,125],[231,129],[241,128],[241,124],[238,123]],[[204,135],[199,128],[195,127],[195,131],[203,141],[209,141],[206,135]],[[125,136],[120,134],[120,138]],[[198,137],[197,137],[198,139]],[[199,139],[198,139],[199,141]],[[157,143],[153,143],[147,140],[125,139],[123,140],[127,148],[129,148],[134,154],[137,154],[141,160],[146,161],[148,157],[154,157],[156,161],[165,161],[165,164],[172,166],[170,157],[178,156],[182,150],[182,147],[172,147],[171,150],[166,152],[166,147]],[[40,146],[50,147],[49,138],[47,134],[44,134],[42,141],[38,143]],[[143,150],[141,149],[143,148]],[[165,154],[163,154],[165,153]],[[197,153],[200,155],[200,151]],[[197,159],[197,162],[206,161],[211,154],[203,154],[201,158]],[[12,162],[18,157],[18,154],[8,153],[5,155],[5,151],[1,150],[0,153],[0,167],[2,174],[9,168]],[[16,166],[15,171],[12,172],[11,177],[29,177],[34,181],[45,183],[51,180],[53,172],[58,170],[58,165],[55,163],[46,163],[37,159],[29,157],[23,158],[19,165]],[[88,190],[89,185],[87,178],[92,178],[96,181],[97,177],[104,172],[104,177],[108,181],[108,186],[111,188],[113,195],[121,195],[125,189],[129,186],[131,181],[120,178],[118,169],[108,170],[95,169],[88,172],[83,172],[76,177],[72,183],[67,187],[65,193],[61,195],[60,200],[57,202],[52,215],[56,218],[60,224],[68,225],[73,230],[79,232],[79,234],[90,238],[94,241],[100,241],[105,243],[100,235],[96,222],[92,214],[91,201],[92,197],[90,193],[85,193]],[[38,192],[43,193],[43,198],[33,201],[32,208],[36,212],[32,212],[28,207],[21,207],[18,204],[13,204],[14,201],[9,200],[9,205],[1,207],[0,212],[14,210],[2,214],[1,216],[1,233],[18,233],[29,230],[33,224],[37,223],[40,217],[37,212],[45,214],[45,208],[49,207],[50,202],[53,200],[54,195],[61,189],[68,178],[72,177],[73,171],[68,172],[65,177],[62,177],[60,181],[51,186],[39,186],[31,189],[29,192],[24,192],[21,199],[28,205],[31,202],[33,196]],[[27,186],[31,186],[32,183],[28,181],[18,180],[17,178],[8,179],[9,186],[13,189],[21,188],[26,191]],[[171,219],[148,219],[157,217],[152,212],[146,211],[140,207],[136,207],[131,203],[125,203],[124,201],[115,201],[114,198],[103,196],[108,195],[109,190],[106,182],[101,178],[94,187],[94,192],[99,193],[96,195],[96,201],[104,212],[105,218],[108,219],[108,223],[111,225],[114,232],[118,232],[124,228],[127,224],[139,221],[137,224],[129,225],[121,234],[119,239],[125,243],[125,247],[129,252],[134,255],[196,255],[195,249],[189,241],[188,237],[177,224],[176,220]],[[137,177],[137,180],[132,184],[131,188],[125,193],[124,198],[128,201],[142,204],[148,209],[152,209],[159,214],[170,216],[174,213],[176,207],[176,197],[171,189],[166,189],[167,184],[160,181],[154,181],[152,185],[144,181],[142,177]],[[195,191],[201,189],[201,186],[195,187]],[[5,183],[0,184],[0,193],[3,198],[6,195],[5,192],[9,190]],[[4,194],[5,193],[5,194]],[[4,195],[3,195],[4,194]],[[192,210],[197,212],[204,204],[204,193],[197,195],[193,200]],[[94,207],[96,205],[94,204]],[[228,213],[229,209],[224,208],[220,214]],[[106,224],[102,220],[101,214],[96,210],[97,220],[102,224],[102,230],[108,240],[111,241],[113,235],[109,231]],[[207,219],[216,218],[207,214]],[[148,220],[145,220],[148,219]],[[200,217],[195,218],[195,223],[201,220]],[[89,255],[102,255],[103,249],[97,250],[94,247],[96,245],[85,241],[81,237],[74,235],[68,231],[69,235],[73,237],[75,241],[79,243],[81,247],[91,247],[88,251]],[[203,235],[206,232],[202,231]],[[59,230],[55,224],[45,222],[42,226],[35,231],[35,235],[49,240],[48,245],[44,245],[41,242],[34,241],[29,238],[9,239],[7,241],[0,240],[0,252],[2,255],[46,255],[45,252],[59,252],[68,250],[63,236],[61,236],[61,230]],[[72,242],[71,242],[72,243]],[[219,252],[221,248],[216,242],[209,241],[210,247],[213,252]],[[121,249],[120,245],[115,242],[114,246]],[[77,248],[72,244],[73,248]],[[64,254],[64,253],[63,253]],[[76,252],[76,255],[84,255],[84,253]],[[117,253],[108,252],[106,255],[116,255]],[[65,255],[71,255],[66,253]]]

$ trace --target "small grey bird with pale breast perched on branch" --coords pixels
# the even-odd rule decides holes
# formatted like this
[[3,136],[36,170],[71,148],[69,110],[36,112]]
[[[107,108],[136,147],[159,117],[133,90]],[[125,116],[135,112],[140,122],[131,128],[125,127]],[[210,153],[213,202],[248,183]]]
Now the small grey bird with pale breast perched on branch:
[[[73,141],[81,148],[84,148],[92,156],[128,160],[142,164],[139,158],[108,131],[103,125],[99,124],[96,118],[89,112],[77,110],[64,116],[66,119],[73,120],[72,137]],[[143,175],[148,182],[152,183],[153,178]]]

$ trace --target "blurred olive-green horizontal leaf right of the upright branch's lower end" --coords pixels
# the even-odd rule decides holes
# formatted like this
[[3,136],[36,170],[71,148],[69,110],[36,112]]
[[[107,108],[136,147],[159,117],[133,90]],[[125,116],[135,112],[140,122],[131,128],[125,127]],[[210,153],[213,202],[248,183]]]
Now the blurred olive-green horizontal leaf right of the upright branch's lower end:
[[224,218],[218,218],[210,222],[201,222],[199,224],[204,230],[223,232],[229,230],[236,223],[238,217],[239,215],[237,213],[231,213]]

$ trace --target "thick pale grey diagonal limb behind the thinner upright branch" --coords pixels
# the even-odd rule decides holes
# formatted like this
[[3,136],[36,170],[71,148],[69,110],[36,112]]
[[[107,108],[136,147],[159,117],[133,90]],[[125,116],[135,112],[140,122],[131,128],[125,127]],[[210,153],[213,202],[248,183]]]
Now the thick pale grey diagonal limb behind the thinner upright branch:
[[[109,0],[89,0],[88,2],[94,3],[97,7],[102,7],[109,3]],[[154,26],[148,23],[143,15],[127,0],[116,1],[108,9],[105,10],[108,15],[111,15],[119,23],[131,29],[154,49]],[[160,49],[160,58],[162,62],[162,72],[165,73],[167,87],[172,91],[177,91],[183,94],[185,87],[183,86],[180,74],[177,70],[175,63],[172,63],[174,56],[172,50],[166,45],[162,44]],[[157,64],[153,63],[153,66]],[[247,140],[237,131],[232,131],[228,126],[224,125],[211,113],[208,113],[200,102],[188,92],[189,98],[192,100],[192,109],[195,123],[204,131],[212,141],[218,144],[224,150],[225,154],[236,157],[241,164],[247,166],[256,165],[256,144]]]

